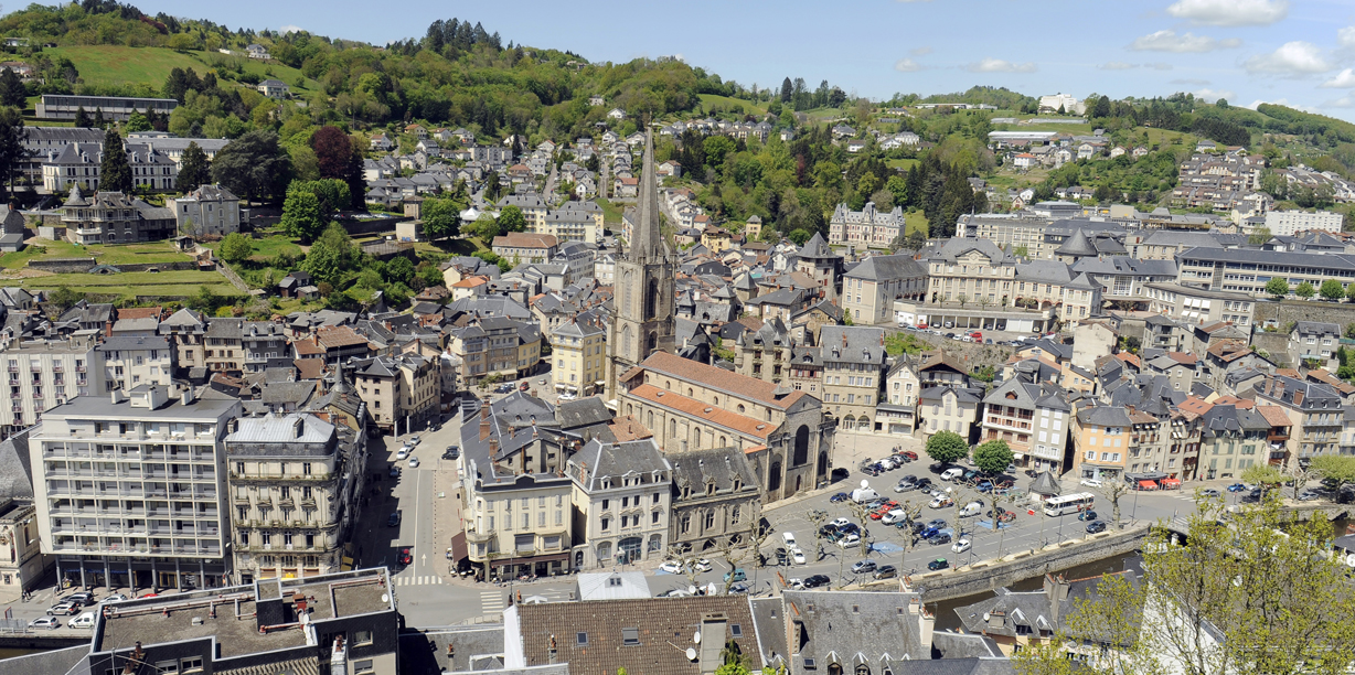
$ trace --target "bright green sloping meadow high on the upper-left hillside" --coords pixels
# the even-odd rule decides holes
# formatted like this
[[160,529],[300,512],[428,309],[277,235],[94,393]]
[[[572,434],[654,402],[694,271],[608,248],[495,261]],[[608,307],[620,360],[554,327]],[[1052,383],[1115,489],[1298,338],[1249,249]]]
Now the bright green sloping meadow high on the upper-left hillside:
[[[80,70],[85,81],[104,84],[149,84],[164,87],[169,70],[192,68],[199,76],[213,69],[218,60],[238,60],[247,73],[259,77],[276,77],[295,87],[305,80],[301,70],[279,62],[251,61],[248,57],[217,54],[215,52],[175,52],[163,47],[127,47],[119,45],[79,45],[68,47],[47,47],[49,57],[66,57]],[[272,75],[270,76],[268,72]],[[306,80],[306,88],[314,89],[314,80]]]

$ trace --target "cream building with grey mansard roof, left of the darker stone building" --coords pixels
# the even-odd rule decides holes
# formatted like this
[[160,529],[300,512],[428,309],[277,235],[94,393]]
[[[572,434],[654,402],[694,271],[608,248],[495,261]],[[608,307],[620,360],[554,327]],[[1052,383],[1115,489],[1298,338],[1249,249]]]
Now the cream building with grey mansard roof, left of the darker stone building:
[[573,530],[581,535],[576,568],[654,560],[668,552],[672,465],[652,438],[592,439],[569,458],[565,473],[573,480]]

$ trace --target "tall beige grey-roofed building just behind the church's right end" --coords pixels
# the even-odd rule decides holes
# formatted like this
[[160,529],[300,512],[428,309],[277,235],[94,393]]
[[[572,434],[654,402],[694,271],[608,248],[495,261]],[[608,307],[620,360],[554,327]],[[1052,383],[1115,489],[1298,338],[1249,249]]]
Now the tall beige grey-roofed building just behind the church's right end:
[[875,404],[885,385],[885,329],[825,325],[820,332],[824,362],[824,409],[843,431],[874,430]]

